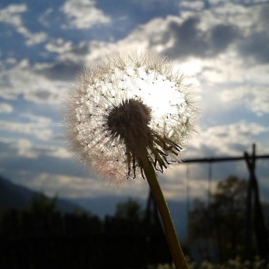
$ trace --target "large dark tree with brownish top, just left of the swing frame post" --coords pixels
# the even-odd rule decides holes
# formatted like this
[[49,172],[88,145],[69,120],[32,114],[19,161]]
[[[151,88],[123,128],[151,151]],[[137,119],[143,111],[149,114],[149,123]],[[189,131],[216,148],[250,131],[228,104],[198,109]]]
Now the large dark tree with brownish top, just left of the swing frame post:
[[196,200],[189,213],[189,237],[207,239],[224,261],[243,254],[247,181],[230,176],[220,181],[209,204]]

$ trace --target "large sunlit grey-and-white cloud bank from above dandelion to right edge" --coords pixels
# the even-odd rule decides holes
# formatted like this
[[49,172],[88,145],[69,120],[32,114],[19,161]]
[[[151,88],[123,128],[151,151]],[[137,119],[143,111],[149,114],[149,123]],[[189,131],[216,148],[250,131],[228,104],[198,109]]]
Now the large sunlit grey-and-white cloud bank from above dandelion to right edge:
[[[57,63],[45,68],[44,74],[52,79],[54,74],[57,74],[54,77],[68,79],[79,66],[91,65],[113,50],[136,48],[167,54],[180,64],[200,60],[200,71],[197,70],[192,77],[208,83],[232,80],[238,83],[238,80],[242,82],[244,79],[265,81],[264,66],[252,65],[251,72],[246,75],[247,60],[242,57],[240,46],[251,40],[255,30],[266,29],[259,18],[267,5],[245,7],[220,1],[213,6],[199,12],[183,10],[180,16],[154,18],[138,25],[116,42],[91,40],[73,44],[63,39],[50,40],[46,49],[58,53]],[[263,44],[263,41],[260,43]]]

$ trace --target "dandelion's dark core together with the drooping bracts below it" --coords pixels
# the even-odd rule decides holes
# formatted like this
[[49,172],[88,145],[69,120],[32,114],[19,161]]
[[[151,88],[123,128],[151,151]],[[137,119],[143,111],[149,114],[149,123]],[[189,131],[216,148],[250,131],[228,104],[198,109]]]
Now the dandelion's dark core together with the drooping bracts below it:
[[151,110],[141,100],[126,99],[109,109],[106,116],[107,132],[113,138],[119,138],[126,146],[126,162],[128,178],[131,171],[135,178],[135,167],[138,165],[143,176],[143,158],[145,150],[151,156],[151,162],[156,170],[163,172],[169,162],[169,154],[178,155],[182,149],[166,136],[154,132],[149,123]]

